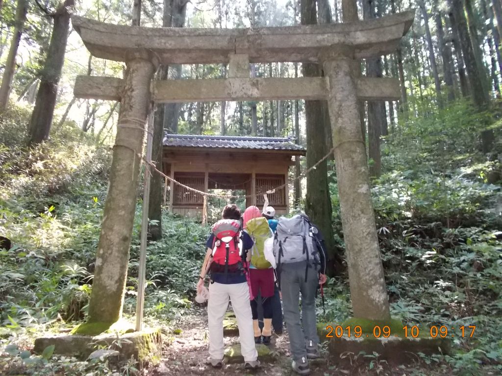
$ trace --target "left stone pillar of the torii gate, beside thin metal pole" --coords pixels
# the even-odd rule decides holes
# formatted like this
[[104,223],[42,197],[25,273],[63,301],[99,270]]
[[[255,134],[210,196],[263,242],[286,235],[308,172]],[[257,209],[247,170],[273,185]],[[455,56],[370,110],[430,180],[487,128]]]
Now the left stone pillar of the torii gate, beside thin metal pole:
[[[99,322],[103,326],[117,321],[122,312],[136,209],[140,155],[143,152],[143,138],[150,108],[150,81],[157,69],[158,59],[150,51],[135,51],[134,54],[128,55],[126,64],[110,168],[110,186],[104,204],[89,305],[88,322]],[[82,331],[85,331],[84,327]]]

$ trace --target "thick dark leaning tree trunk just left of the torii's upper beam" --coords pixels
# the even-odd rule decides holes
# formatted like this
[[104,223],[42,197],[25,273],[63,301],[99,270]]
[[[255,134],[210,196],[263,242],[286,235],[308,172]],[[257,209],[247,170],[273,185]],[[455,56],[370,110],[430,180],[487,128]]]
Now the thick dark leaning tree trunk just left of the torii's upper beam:
[[28,128],[28,145],[38,144],[49,137],[59,79],[63,70],[66,43],[70,27],[70,16],[75,0],[65,0],[54,13],[37,2],[40,9],[53,20],[51,42],[44,68],[41,72],[40,87]]

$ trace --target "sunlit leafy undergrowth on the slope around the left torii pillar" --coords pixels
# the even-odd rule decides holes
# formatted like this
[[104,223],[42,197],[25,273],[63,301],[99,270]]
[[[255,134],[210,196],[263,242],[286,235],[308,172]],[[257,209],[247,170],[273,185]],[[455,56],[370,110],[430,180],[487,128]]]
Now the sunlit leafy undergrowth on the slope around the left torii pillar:
[[[0,374],[129,374],[133,362],[30,355],[36,336],[68,331],[86,318],[110,152],[71,124],[36,148],[21,147],[28,116],[14,108],[0,118],[0,235],[12,242],[0,249]],[[140,197],[123,310],[131,321]],[[147,324],[167,327],[190,308],[208,229],[167,214],[163,224],[163,240],[147,249],[144,312]]]

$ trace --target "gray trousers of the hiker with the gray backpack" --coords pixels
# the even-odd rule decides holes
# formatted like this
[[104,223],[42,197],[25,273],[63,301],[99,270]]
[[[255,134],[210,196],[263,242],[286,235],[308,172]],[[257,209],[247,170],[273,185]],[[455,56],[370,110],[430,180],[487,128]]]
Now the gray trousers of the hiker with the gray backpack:
[[[309,268],[307,282],[305,282],[306,265],[306,261],[281,264],[284,321],[288,327],[291,355],[294,360],[307,356],[306,340],[311,340],[314,345],[319,343],[315,314],[315,294],[319,284],[319,271]],[[302,296],[301,322],[300,294]]]

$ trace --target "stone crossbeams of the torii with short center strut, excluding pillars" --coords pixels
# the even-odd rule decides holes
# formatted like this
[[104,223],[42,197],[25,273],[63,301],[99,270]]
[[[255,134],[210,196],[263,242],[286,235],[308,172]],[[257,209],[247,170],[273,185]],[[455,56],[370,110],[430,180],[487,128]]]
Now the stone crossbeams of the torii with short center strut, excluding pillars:
[[[389,54],[396,50],[413,21],[405,12],[370,21],[316,26],[258,29],[143,28],[103,24],[73,17],[73,27],[89,52],[98,58],[127,61],[148,50],[160,64],[229,63],[226,79],[165,80],[152,82],[152,100],[204,102],[223,100],[326,99],[328,83],[321,77],[249,78],[249,63],[319,62],[320,53],[333,45],[353,48],[354,58]],[[394,78],[359,78],[361,100],[398,100]],[[120,100],[123,80],[78,76],[77,98]]]

